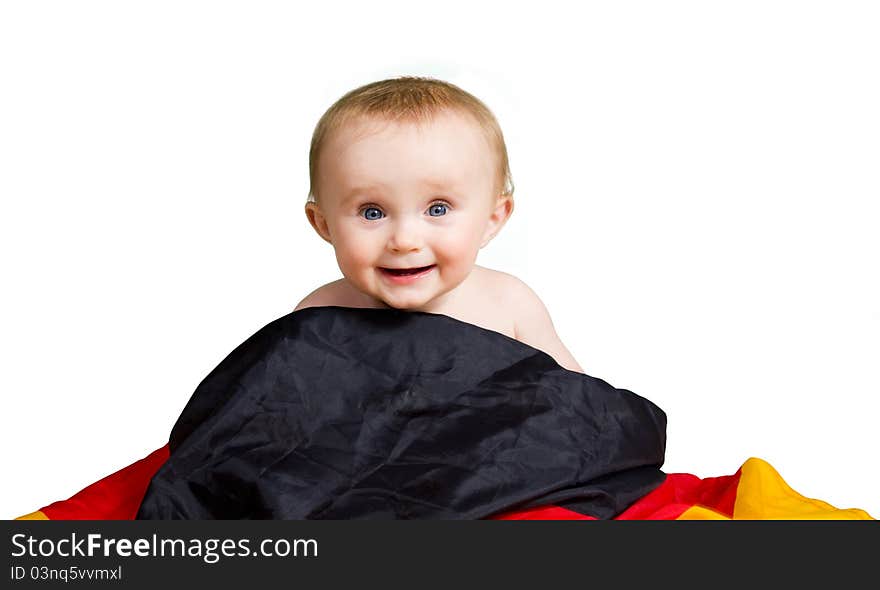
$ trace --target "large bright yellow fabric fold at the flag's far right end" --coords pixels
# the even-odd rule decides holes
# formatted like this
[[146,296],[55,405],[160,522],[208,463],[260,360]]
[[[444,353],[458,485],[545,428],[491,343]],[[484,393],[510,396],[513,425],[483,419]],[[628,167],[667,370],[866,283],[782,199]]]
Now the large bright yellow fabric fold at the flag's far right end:
[[751,457],[740,469],[734,520],[874,520],[864,510],[800,495],[763,459]]

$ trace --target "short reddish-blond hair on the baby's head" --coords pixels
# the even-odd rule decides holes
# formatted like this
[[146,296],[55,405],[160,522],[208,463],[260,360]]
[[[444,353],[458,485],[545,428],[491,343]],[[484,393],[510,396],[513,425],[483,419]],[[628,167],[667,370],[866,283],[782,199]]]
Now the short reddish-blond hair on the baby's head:
[[444,110],[469,114],[476,120],[497,156],[501,194],[513,196],[507,146],[501,127],[489,107],[449,82],[401,76],[371,82],[349,91],[333,103],[318,121],[309,149],[309,201],[316,200],[318,159],[321,147],[333,131],[361,117],[408,123],[429,122]]

